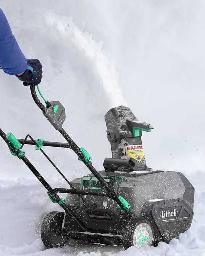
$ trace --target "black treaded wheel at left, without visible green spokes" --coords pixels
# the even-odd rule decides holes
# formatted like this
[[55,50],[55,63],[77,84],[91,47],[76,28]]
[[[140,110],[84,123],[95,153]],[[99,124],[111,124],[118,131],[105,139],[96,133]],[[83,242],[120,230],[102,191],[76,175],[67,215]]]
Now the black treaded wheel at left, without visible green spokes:
[[64,212],[52,211],[46,215],[41,224],[41,239],[46,248],[64,247],[69,241],[63,236],[62,225]]

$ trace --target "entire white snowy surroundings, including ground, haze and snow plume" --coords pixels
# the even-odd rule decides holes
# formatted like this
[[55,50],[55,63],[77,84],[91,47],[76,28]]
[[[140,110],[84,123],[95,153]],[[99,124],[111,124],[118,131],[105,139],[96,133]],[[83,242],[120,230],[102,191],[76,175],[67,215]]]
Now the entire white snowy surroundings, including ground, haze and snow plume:
[[[59,210],[29,169],[0,141],[0,255],[205,255],[205,2],[203,0],[4,0],[0,3],[27,58],[43,65],[41,90],[66,107],[64,129],[103,169],[111,156],[104,115],[128,105],[154,131],[143,135],[147,164],[183,172],[196,189],[190,230],[157,248],[71,244],[45,250],[39,223]],[[0,73],[1,128],[24,138],[61,141],[29,88]],[[39,152],[26,155],[52,186],[66,186]],[[46,148],[71,180],[88,174],[73,152]]]

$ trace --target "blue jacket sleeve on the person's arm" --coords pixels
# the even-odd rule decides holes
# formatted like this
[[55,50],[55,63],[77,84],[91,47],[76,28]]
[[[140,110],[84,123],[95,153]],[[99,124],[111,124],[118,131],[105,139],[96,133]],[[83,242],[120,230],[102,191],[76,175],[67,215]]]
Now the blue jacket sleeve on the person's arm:
[[23,73],[28,64],[23,55],[5,14],[0,8],[0,66],[5,73],[16,75]]

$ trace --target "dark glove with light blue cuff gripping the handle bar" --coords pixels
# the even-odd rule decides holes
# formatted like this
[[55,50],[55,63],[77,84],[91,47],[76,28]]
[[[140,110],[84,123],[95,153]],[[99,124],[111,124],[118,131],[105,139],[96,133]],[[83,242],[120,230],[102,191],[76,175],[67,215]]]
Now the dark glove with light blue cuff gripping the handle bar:
[[29,59],[27,60],[28,69],[22,76],[17,76],[18,79],[24,82],[25,86],[38,85],[43,77],[42,65],[39,60]]

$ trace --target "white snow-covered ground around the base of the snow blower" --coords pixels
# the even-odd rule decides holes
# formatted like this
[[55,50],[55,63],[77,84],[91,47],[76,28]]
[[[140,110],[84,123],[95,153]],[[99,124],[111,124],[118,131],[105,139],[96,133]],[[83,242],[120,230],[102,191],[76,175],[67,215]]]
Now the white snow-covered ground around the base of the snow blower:
[[187,173],[187,177],[196,189],[195,216],[191,229],[180,234],[179,239],[173,239],[170,244],[160,242],[156,248],[145,246],[136,249],[133,247],[126,251],[116,246],[80,244],[79,242],[72,242],[65,248],[45,250],[40,239],[40,222],[47,212],[60,210],[60,207],[51,204],[45,189],[36,180],[26,178],[1,180],[0,255],[69,256],[83,253],[86,256],[205,255],[205,174],[204,172]]

